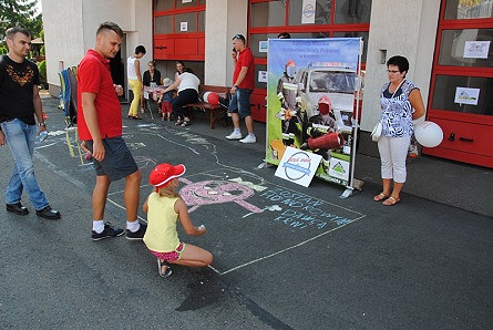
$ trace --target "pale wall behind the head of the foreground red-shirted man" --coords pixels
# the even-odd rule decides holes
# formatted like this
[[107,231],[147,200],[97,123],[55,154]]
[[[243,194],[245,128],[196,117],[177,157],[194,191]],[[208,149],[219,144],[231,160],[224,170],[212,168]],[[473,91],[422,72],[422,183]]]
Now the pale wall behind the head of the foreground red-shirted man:
[[[147,53],[143,70],[153,58],[152,1],[148,0],[42,0],[47,75],[50,85],[60,86],[59,61],[65,69],[78,65],[94,47],[95,32],[104,21],[117,23],[127,35],[124,53],[143,44]],[[51,91],[51,90],[50,90]]]

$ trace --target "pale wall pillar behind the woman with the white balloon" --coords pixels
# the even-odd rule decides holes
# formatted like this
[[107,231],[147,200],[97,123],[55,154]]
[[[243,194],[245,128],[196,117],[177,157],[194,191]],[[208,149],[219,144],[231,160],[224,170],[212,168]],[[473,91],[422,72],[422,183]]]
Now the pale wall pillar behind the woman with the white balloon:
[[[415,82],[428,103],[440,0],[373,0],[371,8],[361,128],[371,131],[380,116],[380,89],[388,81],[387,60],[403,55],[409,60],[407,79]],[[412,4],[412,6],[411,6]]]

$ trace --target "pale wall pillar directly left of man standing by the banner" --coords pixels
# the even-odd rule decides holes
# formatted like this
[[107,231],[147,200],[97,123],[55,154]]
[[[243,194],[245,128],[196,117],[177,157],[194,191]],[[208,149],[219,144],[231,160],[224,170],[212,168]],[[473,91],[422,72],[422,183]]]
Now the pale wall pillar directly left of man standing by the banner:
[[205,83],[232,85],[232,39],[247,37],[247,0],[207,1],[205,11]]

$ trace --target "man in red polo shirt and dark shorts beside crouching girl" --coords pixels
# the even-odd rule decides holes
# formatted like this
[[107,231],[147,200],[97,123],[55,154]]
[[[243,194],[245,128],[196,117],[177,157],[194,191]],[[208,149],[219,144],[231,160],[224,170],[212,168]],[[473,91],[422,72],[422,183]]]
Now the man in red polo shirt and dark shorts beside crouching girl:
[[113,84],[110,59],[122,44],[123,31],[113,22],[104,22],[96,32],[96,43],[82,59],[78,69],[78,127],[94,158],[92,239],[123,235],[122,228],[104,223],[104,207],[111,182],[125,178],[126,238],[142,239],[146,225],[137,219],[142,173],[122,138],[122,111],[117,96],[121,85]]

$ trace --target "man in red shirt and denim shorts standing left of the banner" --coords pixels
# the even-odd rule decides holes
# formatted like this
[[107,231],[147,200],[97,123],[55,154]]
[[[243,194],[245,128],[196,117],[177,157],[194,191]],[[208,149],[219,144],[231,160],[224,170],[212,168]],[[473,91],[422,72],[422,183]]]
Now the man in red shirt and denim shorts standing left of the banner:
[[[254,134],[254,120],[250,113],[250,95],[255,85],[255,65],[254,55],[246,47],[245,37],[236,34],[233,37],[233,61],[235,62],[235,72],[233,73],[232,102],[228,113],[233,118],[235,130],[226,136],[227,140],[239,140],[242,143],[255,143],[257,138]],[[239,130],[239,120],[245,118],[248,135],[242,138]]]

